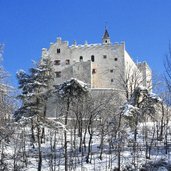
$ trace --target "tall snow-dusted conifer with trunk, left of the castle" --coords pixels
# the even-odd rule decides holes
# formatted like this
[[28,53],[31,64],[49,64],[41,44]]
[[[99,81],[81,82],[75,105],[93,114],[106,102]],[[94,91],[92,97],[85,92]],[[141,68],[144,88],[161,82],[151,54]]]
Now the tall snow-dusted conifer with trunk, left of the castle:
[[[44,127],[40,126],[40,117],[46,116],[46,104],[52,89],[53,70],[52,63],[48,57],[43,58],[35,67],[31,68],[27,74],[23,70],[17,73],[21,94],[18,96],[22,100],[22,106],[16,111],[16,119],[31,117],[32,143],[34,146],[35,133],[37,133],[38,143],[38,170],[42,167],[41,143],[45,139]],[[37,116],[35,119],[33,116]]]

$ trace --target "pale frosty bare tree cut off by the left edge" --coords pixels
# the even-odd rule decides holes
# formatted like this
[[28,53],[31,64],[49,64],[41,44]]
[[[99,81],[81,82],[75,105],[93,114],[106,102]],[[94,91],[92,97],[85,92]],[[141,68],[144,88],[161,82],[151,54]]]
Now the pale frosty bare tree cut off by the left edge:
[[14,88],[7,83],[9,74],[1,65],[4,46],[0,44],[0,170],[8,170],[5,148],[14,130],[11,128],[11,118],[14,113],[15,101],[12,97]]

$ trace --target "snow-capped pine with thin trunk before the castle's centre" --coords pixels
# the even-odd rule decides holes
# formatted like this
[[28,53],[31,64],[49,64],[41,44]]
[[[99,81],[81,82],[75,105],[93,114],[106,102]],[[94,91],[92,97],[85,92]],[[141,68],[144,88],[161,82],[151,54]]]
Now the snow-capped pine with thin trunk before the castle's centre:
[[[56,95],[59,97],[60,101],[62,102],[63,106],[63,119],[64,125],[68,127],[68,117],[77,118],[78,125],[79,125],[79,132],[83,128],[82,125],[82,117],[81,117],[81,110],[78,110],[78,115],[73,115],[73,108],[74,106],[80,107],[83,105],[83,99],[87,96],[88,89],[87,85],[77,79],[71,78],[56,86]],[[78,104],[78,105],[77,105]],[[59,105],[59,104],[58,104]],[[83,109],[83,108],[81,108]],[[81,119],[81,120],[80,120]],[[80,125],[81,124],[81,125]],[[82,132],[81,132],[82,134]],[[81,135],[82,137],[82,135]],[[67,139],[67,131],[64,130],[64,156],[65,156],[65,171],[68,171],[68,139]]]

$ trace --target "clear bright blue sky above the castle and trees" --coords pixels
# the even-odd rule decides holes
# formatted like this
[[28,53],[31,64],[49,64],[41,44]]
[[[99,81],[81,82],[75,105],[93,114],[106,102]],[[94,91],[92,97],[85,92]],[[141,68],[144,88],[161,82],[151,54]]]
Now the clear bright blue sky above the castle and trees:
[[16,71],[28,70],[56,37],[100,43],[106,23],[113,43],[125,41],[135,61],[147,61],[153,73],[164,71],[171,0],[0,0],[3,65],[12,83]]

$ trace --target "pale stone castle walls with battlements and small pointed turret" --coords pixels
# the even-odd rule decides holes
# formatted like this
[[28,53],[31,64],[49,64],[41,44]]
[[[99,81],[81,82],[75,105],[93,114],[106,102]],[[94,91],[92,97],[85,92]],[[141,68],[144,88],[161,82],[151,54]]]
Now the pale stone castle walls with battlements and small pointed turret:
[[151,69],[146,62],[135,63],[125,49],[125,43],[111,43],[105,29],[100,44],[69,46],[67,41],[57,38],[47,50],[42,49],[42,58],[48,56],[53,62],[55,83],[61,84],[70,78],[77,78],[91,89],[152,87]]

